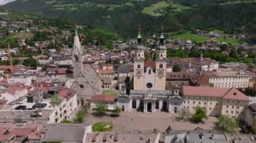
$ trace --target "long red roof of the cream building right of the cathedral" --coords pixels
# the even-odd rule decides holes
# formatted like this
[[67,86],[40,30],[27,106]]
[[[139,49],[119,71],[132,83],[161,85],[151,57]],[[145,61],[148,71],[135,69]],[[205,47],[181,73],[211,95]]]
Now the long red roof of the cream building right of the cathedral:
[[184,96],[222,97],[223,99],[249,101],[249,98],[235,88],[183,86]]

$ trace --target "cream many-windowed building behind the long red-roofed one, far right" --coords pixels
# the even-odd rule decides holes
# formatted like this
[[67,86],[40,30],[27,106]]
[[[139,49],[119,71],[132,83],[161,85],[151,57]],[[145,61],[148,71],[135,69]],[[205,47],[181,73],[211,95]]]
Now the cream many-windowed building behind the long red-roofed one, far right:
[[249,75],[237,68],[217,68],[207,75],[209,83],[214,87],[246,88],[249,86]]

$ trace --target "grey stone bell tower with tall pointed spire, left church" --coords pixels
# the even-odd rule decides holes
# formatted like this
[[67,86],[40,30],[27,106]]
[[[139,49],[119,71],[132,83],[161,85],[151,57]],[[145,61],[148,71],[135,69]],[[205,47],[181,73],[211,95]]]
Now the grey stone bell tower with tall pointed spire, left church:
[[83,69],[82,48],[79,42],[77,30],[75,30],[74,44],[72,49],[73,77],[77,77]]

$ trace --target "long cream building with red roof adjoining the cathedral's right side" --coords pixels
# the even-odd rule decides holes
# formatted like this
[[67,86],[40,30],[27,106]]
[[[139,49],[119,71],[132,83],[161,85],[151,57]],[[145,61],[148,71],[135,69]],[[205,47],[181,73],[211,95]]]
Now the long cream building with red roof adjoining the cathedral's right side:
[[245,120],[245,107],[249,98],[235,88],[183,86],[183,109],[195,113],[195,107],[203,107],[207,115],[228,115]]

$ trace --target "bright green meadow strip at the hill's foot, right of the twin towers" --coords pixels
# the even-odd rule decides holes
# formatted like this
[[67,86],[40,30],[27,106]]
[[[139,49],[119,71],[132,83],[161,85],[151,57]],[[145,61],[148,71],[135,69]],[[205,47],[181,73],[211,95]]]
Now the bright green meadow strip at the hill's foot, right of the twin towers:
[[[190,39],[193,40],[197,43],[203,43],[205,42],[205,40],[209,40],[209,37],[201,37],[201,36],[197,36],[195,34],[191,34],[191,32],[186,32],[184,34],[178,34],[178,35],[174,35],[174,36],[170,36],[170,38],[177,38],[177,39]],[[216,38],[216,40],[218,42],[226,42],[232,45],[236,45],[238,44],[238,40],[234,39],[234,38]]]

